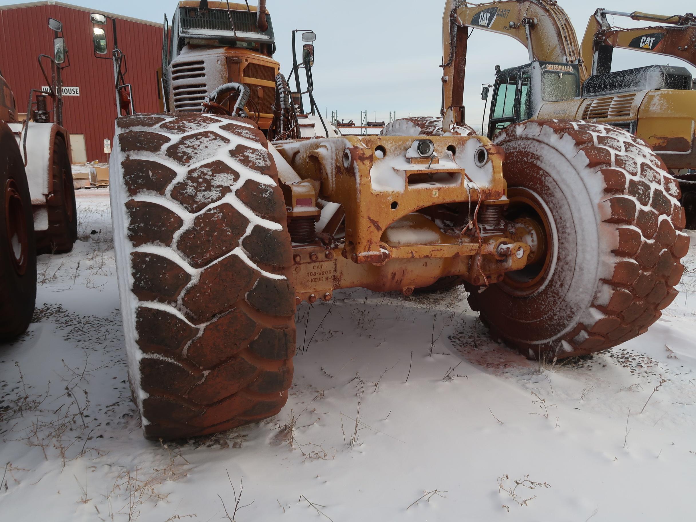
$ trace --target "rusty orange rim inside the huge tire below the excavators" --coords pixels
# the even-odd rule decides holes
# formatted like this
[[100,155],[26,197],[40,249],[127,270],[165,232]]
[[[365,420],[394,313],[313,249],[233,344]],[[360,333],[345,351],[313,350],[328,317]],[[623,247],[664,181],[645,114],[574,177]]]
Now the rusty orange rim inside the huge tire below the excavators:
[[509,189],[510,203],[506,219],[516,223],[519,228],[518,241],[527,242],[532,247],[530,262],[519,271],[505,274],[501,287],[515,296],[528,296],[543,287],[551,275],[549,267],[553,254],[550,218],[539,196],[521,187]]

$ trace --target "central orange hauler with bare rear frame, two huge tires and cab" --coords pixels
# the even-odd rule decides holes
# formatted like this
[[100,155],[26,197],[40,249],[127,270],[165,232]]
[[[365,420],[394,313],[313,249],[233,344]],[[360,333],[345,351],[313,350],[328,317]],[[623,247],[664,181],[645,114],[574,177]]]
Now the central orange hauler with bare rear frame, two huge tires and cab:
[[[416,118],[390,127],[400,135],[306,138],[277,76],[260,128],[247,117],[249,87],[226,74],[246,63],[239,49],[269,49],[268,13],[192,4],[174,19],[176,56],[190,60],[171,88],[204,92],[195,105],[174,94],[173,112],[118,118],[111,156],[129,378],[149,438],[278,413],[296,306],[335,290],[410,295],[464,282],[494,333],[535,358],[633,338],[674,299],[688,244],[675,230],[678,189],[628,133],[543,122],[495,145],[450,104],[444,125]],[[193,32],[176,29],[184,15]],[[177,90],[178,78],[198,84]],[[654,220],[619,196],[614,142],[669,207]]]

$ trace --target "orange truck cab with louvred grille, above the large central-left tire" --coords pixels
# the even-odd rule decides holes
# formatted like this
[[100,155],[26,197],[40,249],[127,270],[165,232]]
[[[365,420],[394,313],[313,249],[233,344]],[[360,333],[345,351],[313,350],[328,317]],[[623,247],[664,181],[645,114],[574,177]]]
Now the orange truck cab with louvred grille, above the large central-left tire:
[[229,3],[228,10],[221,1],[180,1],[171,31],[166,19],[164,27],[166,111],[202,112],[212,90],[234,81],[250,88],[247,112],[261,129],[269,128],[280,64],[273,59],[276,40],[265,2],[259,8]]

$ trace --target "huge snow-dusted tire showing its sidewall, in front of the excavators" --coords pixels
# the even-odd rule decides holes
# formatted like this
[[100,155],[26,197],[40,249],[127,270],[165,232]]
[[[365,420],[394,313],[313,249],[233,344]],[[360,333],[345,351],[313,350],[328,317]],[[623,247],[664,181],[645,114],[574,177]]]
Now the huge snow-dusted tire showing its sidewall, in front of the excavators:
[[546,248],[503,283],[468,289],[493,337],[530,358],[564,358],[644,333],[677,296],[689,246],[663,161],[635,136],[586,122],[511,125],[496,144],[507,218],[537,223]]

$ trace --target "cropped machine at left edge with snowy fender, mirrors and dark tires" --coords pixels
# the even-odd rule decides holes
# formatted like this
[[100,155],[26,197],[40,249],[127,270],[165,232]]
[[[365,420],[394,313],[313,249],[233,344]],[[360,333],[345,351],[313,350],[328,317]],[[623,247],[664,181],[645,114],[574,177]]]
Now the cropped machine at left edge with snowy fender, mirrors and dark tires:
[[[23,333],[36,296],[36,254],[72,250],[77,217],[70,167],[70,135],[62,127],[61,70],[68,56],[62,24],[49,19],[54,56],[39,63],[49,93],[32,90],[26,120],[0,73],[0,339]],[[44,67],[50,63],[49,74]],[[53,100],[51,122],[47,98]]]

